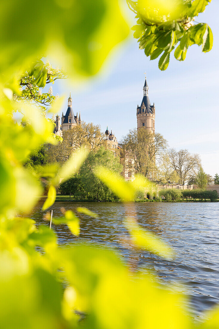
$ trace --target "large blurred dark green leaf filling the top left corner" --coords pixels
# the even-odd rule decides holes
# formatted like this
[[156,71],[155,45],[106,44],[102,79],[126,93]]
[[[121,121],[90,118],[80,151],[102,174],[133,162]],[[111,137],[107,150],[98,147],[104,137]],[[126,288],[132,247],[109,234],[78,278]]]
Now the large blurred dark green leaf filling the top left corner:
[[[44,52],[62,63],[65,60],[71,74],[96,74],[111,49],[129,34],[117,0],[39,0],[32,4],[24,0],[4,1],[0,27],[0,71],[4,72],[1,80],[6,81],[19,75]],[[37,83],[42,86],[44,81],[39,79]]]

